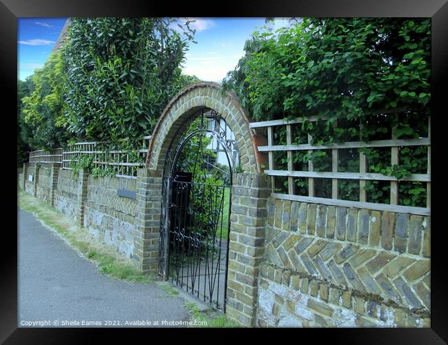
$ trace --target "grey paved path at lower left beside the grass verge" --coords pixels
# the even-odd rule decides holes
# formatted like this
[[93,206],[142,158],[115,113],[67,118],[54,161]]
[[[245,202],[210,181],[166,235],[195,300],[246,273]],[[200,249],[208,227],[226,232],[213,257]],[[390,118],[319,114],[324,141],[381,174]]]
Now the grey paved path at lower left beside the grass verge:
[[101,327],[106,320],[125,327],[127,320],[159,320],[160,326],[162,320],[190,320],[181,297],[101,274],[34,215],[20,208],[17,212],[19,327],[32,321],[47,321],[50,325],[44,327],[52,327],[54,320],[59,320],[59,327],[65,321],[72,322],[65,327],[83,327],[83,320],[101,322]]

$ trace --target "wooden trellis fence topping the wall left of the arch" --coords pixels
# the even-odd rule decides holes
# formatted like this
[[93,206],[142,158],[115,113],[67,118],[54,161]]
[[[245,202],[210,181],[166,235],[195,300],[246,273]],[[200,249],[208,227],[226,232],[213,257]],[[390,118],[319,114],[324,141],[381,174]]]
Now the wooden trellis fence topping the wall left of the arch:
[[37,150],[30,152],[30,165],[59,163],[63,169],[72,169],[79,155],[93,157],[95,168],[110,167],[118,177],[136,178],[136,169],[145,166],[150,135],[139,139],[139,149],[108,150],[108,144],[98,141],[86,141],[68,145],[66,148],[55,148],[50,151]]

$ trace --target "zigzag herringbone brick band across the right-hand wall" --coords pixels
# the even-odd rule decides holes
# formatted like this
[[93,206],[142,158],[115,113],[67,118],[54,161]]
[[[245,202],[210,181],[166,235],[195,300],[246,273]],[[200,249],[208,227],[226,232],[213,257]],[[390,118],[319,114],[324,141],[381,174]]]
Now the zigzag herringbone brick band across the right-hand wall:
[[279,232],[265,259],[335,286],[380,295],[409,308],[429,309],[429,259],[403,256],[355,244]]

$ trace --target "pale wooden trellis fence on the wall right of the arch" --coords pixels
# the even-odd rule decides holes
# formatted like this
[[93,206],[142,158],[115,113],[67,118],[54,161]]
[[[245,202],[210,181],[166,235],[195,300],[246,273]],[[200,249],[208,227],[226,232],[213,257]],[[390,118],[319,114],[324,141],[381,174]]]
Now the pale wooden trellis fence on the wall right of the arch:
[[[323,118],[320,118],[323,119]],[[318,117],[307,117],[307,121],[317,121]],[[431,146],[430,146],[430,117],[428,125],[428,137],[418,139],[396,139],[395,130],[391,130],[391,139],[375,140],[375,141],[349,141],[341,144],[328,145],[312,145],[312,137],[308,136],[308,144],[292,144],[292,125],[301,124],[305,121],[304,118],[297,118],[291,121],[274,120],[252,122],[250,128],[266,128],[267,129],[267,146],[258,146],[261,152],[267,152],[269,166],[265,168],[265,173],[272,177],[272,196],[278,199],[287,199],[294,201],[303,201],[317,204],[326,204],[333,206],[347,206],[357,208],[369,208],[373,210],[389,210],[394,212],[413,213],[416,215],[430,214],[431,201]],[[286,142],[287,145],[274,145],[274,127],[286,126]],[[403,179],[396,179],[396,177],[383,175],[380,173],[367,172],[367,159],[365,154],[360,153],[359,172],[338,172],[338,156],[340,149],[347,148],[390,148],[391,150],[391,165],[398,165],[398,151],[401,146],[427,146],[427,173],[426,174],[412,174]],[[314,171],[312,161],[309,161],[308,171],[296,171],[293,168],[292,155],[294,151],[312,150],[332,150],[332,171],[331,172],[317,172]],[[287,152],[287,170],[276,170],[274,162],[274,152]],[[275,177],[287,177],[288,190],[286,193],[275,193]],[[294,177],[308,178],[308,195],[296,195],[294,186]],[[332,197],[323,198],[316,197],[314,193],[314,179],[325,178],[332,179]],[[338,179],[354,179],[359,181],[359,201],[343,200],[338,195]],[[390,204],[377,204],[373,202],[366,202],[366,181],[390,181]],[[399,181],[421,181],[427,184],[427,207],[414,207],[398,205],[398,183]]]

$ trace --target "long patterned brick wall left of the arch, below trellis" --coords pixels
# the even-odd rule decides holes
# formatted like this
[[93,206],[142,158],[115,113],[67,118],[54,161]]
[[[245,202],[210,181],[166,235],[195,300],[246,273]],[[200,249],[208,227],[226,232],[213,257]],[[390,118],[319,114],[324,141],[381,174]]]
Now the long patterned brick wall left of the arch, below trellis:
[[[120,197],[118,190],[136,193],[136,179],[92,177],[82,170],[74,173],[58,166],[38,168],[36,174],[36,169],[26,164],[23,171],[19,173],[21,190],[25,186],[26,193],[52,204],[123,256],[133,257],[134,243],[140,238],[136,233],[141,223],[138,200],[136,195]],[[28,181],[28,175],[33,175],[33,181]]]

